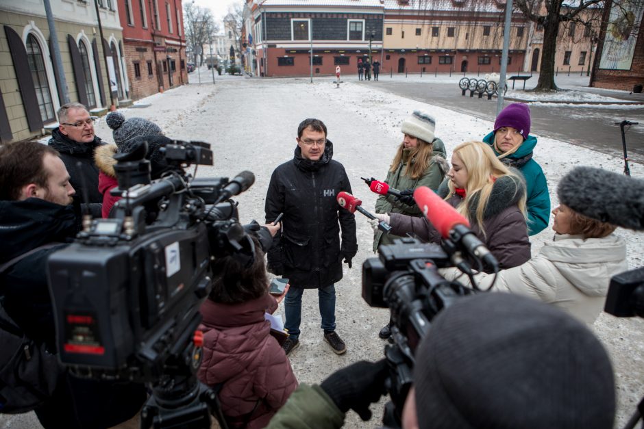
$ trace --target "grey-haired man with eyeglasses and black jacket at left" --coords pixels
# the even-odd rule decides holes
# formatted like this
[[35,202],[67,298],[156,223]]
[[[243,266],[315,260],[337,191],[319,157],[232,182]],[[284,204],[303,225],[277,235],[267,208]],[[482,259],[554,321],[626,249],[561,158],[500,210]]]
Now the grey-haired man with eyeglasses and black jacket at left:
[[95,120],[81,103],[62,105],[58,109],[58,129],[51,132],[49,146],[60,153],[77,196],[83,200],[86,191],[89,203],[103,203],[99,168],[94,163],[94,150],[103,142],[94,133]]

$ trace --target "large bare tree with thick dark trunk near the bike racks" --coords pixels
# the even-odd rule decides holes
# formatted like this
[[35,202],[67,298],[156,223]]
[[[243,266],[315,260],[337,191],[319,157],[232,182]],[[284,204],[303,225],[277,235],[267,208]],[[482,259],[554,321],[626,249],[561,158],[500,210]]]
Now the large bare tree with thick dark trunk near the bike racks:
[[593,25],[586,22],[582,12],[589,8],[603,8],[605,3],[606,0],[515,0],[515,8],[520,10],[525,18],[543,27],[541,69],[535,91],[558,90],[554,83],[554,64],[560,25],[573,22],[584,27]]

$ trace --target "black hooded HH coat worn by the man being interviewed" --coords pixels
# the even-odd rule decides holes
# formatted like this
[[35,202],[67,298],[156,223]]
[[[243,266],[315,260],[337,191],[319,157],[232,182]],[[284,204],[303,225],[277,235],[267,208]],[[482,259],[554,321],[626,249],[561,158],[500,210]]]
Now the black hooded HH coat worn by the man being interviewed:
[[[327,141],[319,161],[295,157],[275,168],[266,196],[266,222],[284,213],[282,230],[268,253],[269,271],[283,274],[293,287],[326,287],[342,278],[343,258],[358,251],[356,219],[336,202],[338,192],[351,192],[345,168],[332,160]],[[340,246],[340,228],[342,244]]]

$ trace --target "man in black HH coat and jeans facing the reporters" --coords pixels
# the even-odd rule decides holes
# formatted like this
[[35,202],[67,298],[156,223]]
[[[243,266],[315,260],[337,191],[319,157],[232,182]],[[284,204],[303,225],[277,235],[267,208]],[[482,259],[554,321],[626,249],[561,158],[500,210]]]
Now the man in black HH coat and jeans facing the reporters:
[[321,120],[302,121],[295,156],[275,168],[266,196],[267,223],[284,213],[282,231],[268,252],[268,266],[290,283],[284,300],[286,354],[299,346],[304,289],[318,289],[324,340],[336,354],[347,350],[335,332],[334,283],[342,278],[343,259],[351,268],[358,251],[356,219],[336,202],[338,192],[351,192],[351,184],[342,164],[332,160],[333,144],[326,137]]

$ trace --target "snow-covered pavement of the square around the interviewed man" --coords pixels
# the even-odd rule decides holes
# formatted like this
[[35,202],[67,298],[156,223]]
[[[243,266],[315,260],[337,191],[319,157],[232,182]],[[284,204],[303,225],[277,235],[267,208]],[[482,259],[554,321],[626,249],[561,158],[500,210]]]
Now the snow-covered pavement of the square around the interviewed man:
[[[203,79],[203,74],[201,77]],[[460,77],[456,77],[456,82]],[[369,210],[375,205],[376,195],[360,177],[384,179],[395,147],[401,141],[401,121],[414,110],[421,109],[436,117],[436,135],[445,142],[448,157],[456,145],[480,140],[493,127],[494,118],[484,120],[352,81],[342,83],[340,89],[336,89],[330,78],[315,79],[312,84],[308,78],[217,78],[215,85],[202,83],[175,88],[138,101],[136,104],[142,107],[129,107],[121,112],[126,118],[139,116],[156,122],[171,138],[210,142],[214,166],[199,166],[197,177],[234,177],[242,170],[254,172],[255,184],[237,198],[243,222],[263,221],[264,198],[271,173],[277,165],[293,157],[297,125],[304,118],[314,117],[325,122],[328,138],[334,144],[334,159],[345,166],[353,194]],[[112,141],[104,118],[97,122],[97,135]],[[558,181],[574,166],[595,166],[618,173],[623,169],[623,161],[619,158],[567,142],[536,137],[538,146],[534,159],[541,164],[547,177],[552,207],[558,203]],[[634,177],[644,177],[644,166],[631,164],[631,172]],[[317,294],[308,291],[303,300],[301,346],[290,356],[300,382],[321,382],[349,363],[383,357],[385,342],[378,339],[377,332],[386,324],[388,311],[372,309],[361,298],[360,267],[365,259],[373,257],[373,233],[367,218],[356,213],[356,221],[360,250],[354,259],[354,268],[348,270],[345,265],[345,277],[336,285],[337,331],[347,343],[347,353],[336,356],[323,342]],[[644,236],[623,229],[618,229],[617,234],[628,242],[630,267],[644,265]],[[548,229],[531,237],[533,255],[552,236],[552,230]],[[602,314],[593,328],[610,352],[615,367],[619,402],[616,427],[621,427],[644,395],[644,321]],[[372,406],[374,417],[369,422],[362,422],[355,413],[349,413],[345,427],[380,426],[382,404],[384,400]],[[0,427],[34,427],[33,421],[30,421],[31,426],[21,426],[22,418],[26,419],[0,417],[0,423],[4,425]]]

